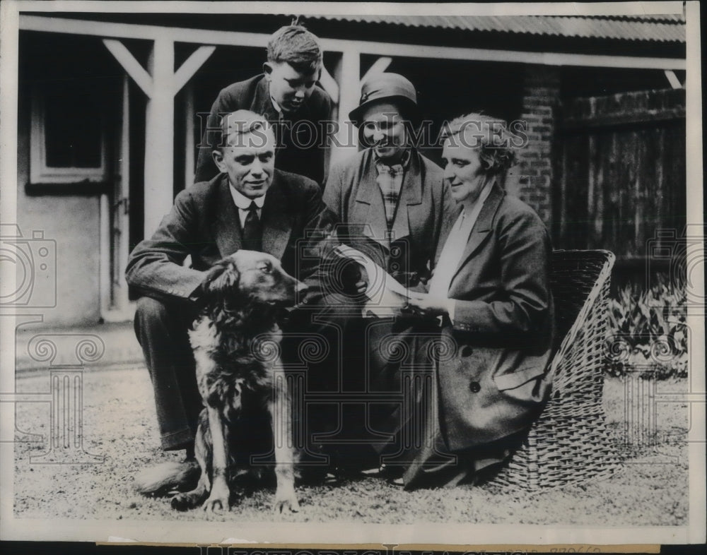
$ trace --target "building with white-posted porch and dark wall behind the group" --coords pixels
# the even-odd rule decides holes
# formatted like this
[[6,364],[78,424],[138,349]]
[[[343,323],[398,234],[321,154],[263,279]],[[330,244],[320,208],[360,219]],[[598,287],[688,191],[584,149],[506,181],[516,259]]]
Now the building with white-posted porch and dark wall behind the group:
[[[21,14],[17,225],[55,241],[47,325],[132,317],[130,249],[192,183],[218,90],[259,73],[269,35],[290,21]],[[524,122],[506,189],[537,210],[557,248],[606,248],[635,263],[655,229],[684,225],[682,16],[300,21],[325,49],[320,83],[341,124],[330,162],[357,148],[346,114],[361,80],[395,71],[418,88],[433,137],[479,110]],[[438,148],[423,151],[439,160]],[[626,160],[635,171],[623,171]]]

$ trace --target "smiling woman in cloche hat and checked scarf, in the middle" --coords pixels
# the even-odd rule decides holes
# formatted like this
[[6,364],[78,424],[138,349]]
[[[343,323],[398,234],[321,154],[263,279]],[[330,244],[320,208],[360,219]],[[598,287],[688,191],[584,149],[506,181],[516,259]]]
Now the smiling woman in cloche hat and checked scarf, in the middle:
[[[368,78],[349,119],[367,148],[332,168],[324,201],[344,224],[339,229],[342,241],[366,253],[404,287],[414,287],[433,270],[457,215],[443,170],[421,155],[412,141],[419,133],[411,131],[421,124],[414,85],[397,73]],[[403,344],[407,320],[348,318],[341,356],[344,383],[349,380],[368,391],[399,395],[401,361],[395,354]],[[398,431],[398,412],[390,402],[369,405],[367,427],[357,413],[358,430],[349,433],[370,435],[368,445],[375,450],[365,460],[361,443],[349,453],[342,448],[340,464],[359,470],[377,467],[377,454],[395,450],[390,442],[381,441],[385,436],[380,434]],[[352,424],[344,422],[347,425]]]

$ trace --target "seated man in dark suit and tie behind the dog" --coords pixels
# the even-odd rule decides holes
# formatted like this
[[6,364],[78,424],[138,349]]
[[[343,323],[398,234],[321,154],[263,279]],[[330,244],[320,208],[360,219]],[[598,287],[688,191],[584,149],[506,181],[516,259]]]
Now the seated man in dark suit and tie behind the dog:
[[[141,294],[135,331],[153,382],[162,447],[193,453],[201,398],[187,329],[199,308],[206,270],[238,249],[269,253],[321,298],[315,252],[326,244],[333,214],[311,179],[275,169],[272,129],[247,110],[223,119],[226,146],[212,155],[219,170],[180,192],[150,239],[138,244],[126,277]],[[191,265],[184,265],[191,256]]]

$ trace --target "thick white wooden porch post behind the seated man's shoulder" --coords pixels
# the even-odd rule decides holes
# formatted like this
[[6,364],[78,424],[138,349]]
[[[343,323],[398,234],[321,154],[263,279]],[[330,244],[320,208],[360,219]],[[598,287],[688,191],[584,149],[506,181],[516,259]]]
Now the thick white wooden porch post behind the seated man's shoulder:
[[174,191],[174,42],[156,37],[148,72],[152,95],[145,116],[145,237],[151,237],[172,207]]

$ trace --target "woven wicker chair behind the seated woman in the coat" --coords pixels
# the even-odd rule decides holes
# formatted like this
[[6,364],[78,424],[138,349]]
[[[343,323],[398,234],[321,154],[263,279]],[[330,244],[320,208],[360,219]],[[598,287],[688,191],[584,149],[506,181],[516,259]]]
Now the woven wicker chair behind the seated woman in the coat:
[[614,254],[554,251],[550,286],[560,343],[551,398],[525,442],[491,482],[534,491],[612,475],[619,459],[604,426],[604,341]]

